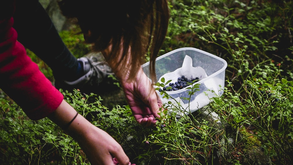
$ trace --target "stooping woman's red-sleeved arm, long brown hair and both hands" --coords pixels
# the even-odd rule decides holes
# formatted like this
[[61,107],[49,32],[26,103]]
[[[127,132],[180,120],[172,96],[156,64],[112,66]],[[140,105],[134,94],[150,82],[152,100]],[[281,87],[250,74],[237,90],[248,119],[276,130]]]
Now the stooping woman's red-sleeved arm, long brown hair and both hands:
[[[13,28],[15,5],[11,0],[0,2],[0,88],[30,119],[48,117],[62,127],[80,144],[91,164],[130,164],[122,147],[64,101],[26,55]],[[85,40],[103,53],[122,84],[137,122],[155,124],[162,103],[140,64],[150,50],[154,79],[154,59],[168,27],[167,2],[66,0],[60,2],[60,8],[65,16],[78,19]]]

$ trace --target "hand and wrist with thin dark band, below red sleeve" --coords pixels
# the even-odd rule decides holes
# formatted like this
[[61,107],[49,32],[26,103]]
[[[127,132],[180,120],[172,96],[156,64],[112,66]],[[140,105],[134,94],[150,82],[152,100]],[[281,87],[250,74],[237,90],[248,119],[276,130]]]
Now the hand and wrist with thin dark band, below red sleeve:
[[[48,116],[54,123],[64,127],[76,115],[76,110],[66,101],[62,101],[57,110]],[[130,165],[129,158],[107,132],[92,125],[82,115],[77,115],[65,131],[76,140],[86,153],[91,164]],[[113,160],[115,157],[115,163]]]

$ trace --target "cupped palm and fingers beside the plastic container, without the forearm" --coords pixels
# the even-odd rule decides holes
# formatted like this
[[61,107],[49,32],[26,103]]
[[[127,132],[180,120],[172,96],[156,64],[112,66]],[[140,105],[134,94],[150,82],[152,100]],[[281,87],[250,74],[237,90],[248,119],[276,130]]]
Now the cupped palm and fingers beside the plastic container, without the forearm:
[[134,80],[122,81],[121,85],[137,123],[146,127],[155,125],[163,104],[142,68]]

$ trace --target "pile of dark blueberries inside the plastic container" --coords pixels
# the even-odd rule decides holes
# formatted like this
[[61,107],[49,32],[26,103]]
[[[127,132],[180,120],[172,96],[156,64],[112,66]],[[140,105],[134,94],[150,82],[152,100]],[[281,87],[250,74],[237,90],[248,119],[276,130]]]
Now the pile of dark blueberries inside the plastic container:
[[[165,86],[163,87],[163,91],[177,91],[179,89],[183,89],[185,88],[186,86],[189,86],[190,84],[188,83],[195,83],[199,81],[199,78],[198,77],[195,77],[194,79],[188,79],[186,78],[185,76],[181,76],[181,77],[178,77],[178,81],[176,81],[175,83],[169,83],[169,86],[171,87],[171,89],[167,89],[167,87],[169,86]],[[159,92],[161,92],[162,89],[159,89]]]

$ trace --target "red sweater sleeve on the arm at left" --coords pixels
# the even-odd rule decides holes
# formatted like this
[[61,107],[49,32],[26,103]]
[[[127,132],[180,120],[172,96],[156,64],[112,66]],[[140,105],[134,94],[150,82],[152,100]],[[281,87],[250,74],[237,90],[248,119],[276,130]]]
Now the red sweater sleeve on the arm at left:
[[13,1],[6,3],[5,7],[0,3],[0,88],[30,119],[39,120],[57,109],[63,95],[17,41],[17,32],[12,28]]

